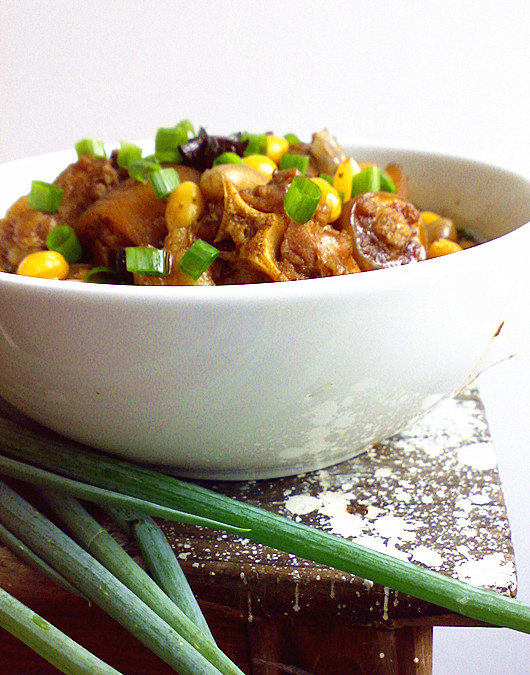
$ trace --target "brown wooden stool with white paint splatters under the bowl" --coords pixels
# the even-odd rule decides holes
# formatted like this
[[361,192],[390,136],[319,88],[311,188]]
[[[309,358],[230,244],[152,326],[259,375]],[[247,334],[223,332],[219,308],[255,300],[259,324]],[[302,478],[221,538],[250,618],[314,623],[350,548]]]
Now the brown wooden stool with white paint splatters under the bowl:
[[[510,529],[475,390],[442,402],[403,433],[330,469],[207,485],[515,595]],[[432,672],[433,626],[481,625],[232,535],[160,524],[219,646],[245,673],[424,675]],[[138,556],[135,545],[107,525]],[[0,586],[127,675],[174,672],[98,607],[56,587],[5,548],[0,548]],[[0,631],[0,672],[57,671]]]

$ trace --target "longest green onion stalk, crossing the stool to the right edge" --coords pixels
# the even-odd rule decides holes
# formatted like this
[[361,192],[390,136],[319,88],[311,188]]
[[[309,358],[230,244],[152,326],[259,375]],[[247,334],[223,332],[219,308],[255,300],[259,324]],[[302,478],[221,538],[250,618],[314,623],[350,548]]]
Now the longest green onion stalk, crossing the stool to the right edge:
[[0,419],[0,438],[4,452],[57,474],[239,524],[250,528],[245,537],[253,542],[371,579],[478,621],[530,633],[530,605],[515,598],[471,586],[160,471],[66,440],[45,439],[7,420]]

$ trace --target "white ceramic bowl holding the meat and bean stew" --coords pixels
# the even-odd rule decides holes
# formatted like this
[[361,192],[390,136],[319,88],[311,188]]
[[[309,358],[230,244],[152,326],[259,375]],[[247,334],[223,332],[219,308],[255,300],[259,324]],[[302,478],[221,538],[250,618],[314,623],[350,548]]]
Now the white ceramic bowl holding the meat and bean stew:
[[[337,463],[451,395],[514,292],[528,293],[530,182],[449,156],[354,156],[402,164],[419,207],[493,241],[402,268],[249,286],[0,274],[0,395],[84,443],[216,479]],[[0,167],[0,213],[73,160]]]

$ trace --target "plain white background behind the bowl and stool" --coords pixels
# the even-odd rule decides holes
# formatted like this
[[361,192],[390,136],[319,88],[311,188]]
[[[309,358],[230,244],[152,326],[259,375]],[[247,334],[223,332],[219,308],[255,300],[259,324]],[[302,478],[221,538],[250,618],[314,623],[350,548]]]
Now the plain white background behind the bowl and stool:
[[[151,138],[188,117],[219,133],[326,126],[343,142],[530,175],[529,98],[528,0],[0,3],[2,162],[86,136]],[[479,378],[526,602],[529,312],[504,336],[517,356]],[[528,674],[530,637],[436,629],[434,663],[440,675]]]

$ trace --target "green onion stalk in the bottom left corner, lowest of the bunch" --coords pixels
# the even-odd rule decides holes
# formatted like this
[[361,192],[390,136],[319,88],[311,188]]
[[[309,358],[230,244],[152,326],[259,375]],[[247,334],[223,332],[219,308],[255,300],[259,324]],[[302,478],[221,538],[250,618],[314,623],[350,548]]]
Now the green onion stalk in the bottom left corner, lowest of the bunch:
[[0,588],[0,626],[62,673],[120,675],[58,628]]

